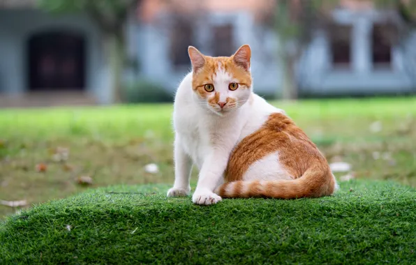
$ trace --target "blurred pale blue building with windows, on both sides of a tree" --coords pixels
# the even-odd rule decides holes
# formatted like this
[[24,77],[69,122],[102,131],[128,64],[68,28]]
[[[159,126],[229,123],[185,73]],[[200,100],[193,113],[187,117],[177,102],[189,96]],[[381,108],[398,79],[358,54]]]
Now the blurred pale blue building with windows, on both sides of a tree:
[[[275,1],[145,1],[141,10],[142,71],[172,91],[189,70],[186,47],[229,56],[245,43],[252,48],[255,91],[276,94],[281,86],[278,33],[265,27]],[[399,38],[395,10],[377,10],[371,1],[340,1],[330,27],[317,30],[297,62],[300,95],[336,96],[416,91],[416,33]]]

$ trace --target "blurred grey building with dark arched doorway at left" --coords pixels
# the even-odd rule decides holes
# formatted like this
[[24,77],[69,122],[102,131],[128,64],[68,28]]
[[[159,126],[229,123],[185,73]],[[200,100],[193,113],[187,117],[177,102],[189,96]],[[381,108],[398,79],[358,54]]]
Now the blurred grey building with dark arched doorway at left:
[[107,103],[101,33],[84,14],[0,0],[0,107]]

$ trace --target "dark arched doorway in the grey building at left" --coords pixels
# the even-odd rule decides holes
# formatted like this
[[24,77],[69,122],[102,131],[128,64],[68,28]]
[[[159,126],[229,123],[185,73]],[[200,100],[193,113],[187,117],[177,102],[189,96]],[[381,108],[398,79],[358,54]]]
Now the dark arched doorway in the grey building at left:
[[38,33],[29,39],[28,55],[31,91],[84,89],[85,43],[80,34]]

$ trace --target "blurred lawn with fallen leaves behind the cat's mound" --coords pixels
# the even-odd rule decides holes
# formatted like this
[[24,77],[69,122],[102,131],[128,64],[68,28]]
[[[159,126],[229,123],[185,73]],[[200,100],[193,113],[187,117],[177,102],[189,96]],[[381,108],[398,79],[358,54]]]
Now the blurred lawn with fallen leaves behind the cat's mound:
[[[292,116],[328,160],[349,162],[356,178],[416,187],[416,98],[275,105]],[[76,181],[80,176],[90,176],[92,187],[172,183],[171,112],[171,105],[1,109],[0,199],[33,204],[68,197],[85,190]],[[69,150],[68,160],[54,160],[58,147]],[[145,172],[151,162],[160,172]],[[45,172],[36,171],[40,163],[47,166]],[[0,206],[0,219],[14,212]]]

